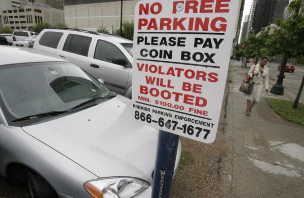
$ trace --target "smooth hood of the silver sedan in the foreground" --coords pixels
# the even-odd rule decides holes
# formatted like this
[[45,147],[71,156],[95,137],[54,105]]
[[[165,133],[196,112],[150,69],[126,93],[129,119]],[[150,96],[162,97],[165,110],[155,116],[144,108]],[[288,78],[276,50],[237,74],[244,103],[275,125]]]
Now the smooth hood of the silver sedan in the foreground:
[[98,177],[151,179],[158,132],[133,120],[125,97],[22,129]]

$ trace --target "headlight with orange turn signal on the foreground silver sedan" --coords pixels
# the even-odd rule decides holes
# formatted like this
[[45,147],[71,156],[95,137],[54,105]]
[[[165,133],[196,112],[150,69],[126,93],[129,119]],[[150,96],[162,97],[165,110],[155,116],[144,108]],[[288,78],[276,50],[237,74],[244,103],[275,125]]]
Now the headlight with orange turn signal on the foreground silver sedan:
[[95,198],[129,198],[149,187],[149,183],[133,177],[108,177],[85,183],[86,190]]

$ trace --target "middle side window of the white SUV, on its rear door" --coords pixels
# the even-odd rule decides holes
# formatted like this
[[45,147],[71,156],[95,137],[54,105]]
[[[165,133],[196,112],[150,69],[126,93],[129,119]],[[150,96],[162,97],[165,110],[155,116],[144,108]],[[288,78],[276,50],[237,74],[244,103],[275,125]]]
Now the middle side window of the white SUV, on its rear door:
[[91,41],[91,37],[69,34],[62,50],[87,57]]

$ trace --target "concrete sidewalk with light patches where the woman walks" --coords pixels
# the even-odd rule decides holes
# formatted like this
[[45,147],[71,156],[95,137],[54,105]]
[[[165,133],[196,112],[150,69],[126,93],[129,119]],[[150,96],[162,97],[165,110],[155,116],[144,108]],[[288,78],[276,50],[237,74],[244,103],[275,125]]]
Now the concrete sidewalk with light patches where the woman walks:
[[[304,126],[279,117],[264,97],[245,115],[246,100],[239,91],[248,69],[231,61],[227,143],[230,147],[223,173],[232,197],[304,197]],[[272,85],[272,84],[270,84]],[[270,87],[271,88],[271,87]]]

